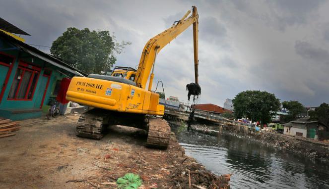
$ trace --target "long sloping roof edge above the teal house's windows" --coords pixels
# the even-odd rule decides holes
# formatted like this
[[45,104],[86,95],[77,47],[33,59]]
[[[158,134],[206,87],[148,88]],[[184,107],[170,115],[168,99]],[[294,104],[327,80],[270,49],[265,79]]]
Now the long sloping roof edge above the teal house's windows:
[[[41,50],[38,50],[35,47],[29,46],[19,40],[16,40],[15,38],[3,33],[2,31],[0,31],[0,37],[2,37],[4,40],[6,40],[7,42],[11,43],[12,45],[19,47],[20,49],[22,49],[23,51],[32,54],[35,57],[38,57],[50,64],[53,64],[59,68],[62,68],[68,72],[73,73],[74,75],[79,75],[79,76],[87,76],[87,74],[77,70],[76,68],[66,64],[65,62],[63,62],[62,60],[56,58],[55,56],[51,55],[51,54],[47,54]],[[1,49],[0,49],[1,50]]]

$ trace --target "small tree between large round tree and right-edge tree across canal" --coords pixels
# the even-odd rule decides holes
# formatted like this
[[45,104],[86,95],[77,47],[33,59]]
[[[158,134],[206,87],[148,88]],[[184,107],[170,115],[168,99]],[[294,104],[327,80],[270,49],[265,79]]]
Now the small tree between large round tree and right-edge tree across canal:
[[282,107],[289,110],[287,116],[283,116],[283,122],[296,120],[297,116],[305,110],[302,103],[297,100],[283,101]]

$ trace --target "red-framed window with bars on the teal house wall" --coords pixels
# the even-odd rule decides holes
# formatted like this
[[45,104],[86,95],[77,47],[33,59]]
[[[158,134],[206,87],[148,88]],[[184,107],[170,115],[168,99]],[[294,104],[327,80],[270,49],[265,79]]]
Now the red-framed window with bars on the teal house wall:
[[41,68],[20,62],[12,82],[8,99],[31,100],[38,82]]

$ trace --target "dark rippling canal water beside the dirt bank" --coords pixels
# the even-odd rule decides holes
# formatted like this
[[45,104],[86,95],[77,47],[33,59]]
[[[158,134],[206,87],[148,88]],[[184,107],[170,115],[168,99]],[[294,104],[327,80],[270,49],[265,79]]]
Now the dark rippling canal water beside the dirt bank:
[[217,175],[233,173],[231,189],[329,189],[329,163],[231,134],[173,131],[186,154],[206,169]]

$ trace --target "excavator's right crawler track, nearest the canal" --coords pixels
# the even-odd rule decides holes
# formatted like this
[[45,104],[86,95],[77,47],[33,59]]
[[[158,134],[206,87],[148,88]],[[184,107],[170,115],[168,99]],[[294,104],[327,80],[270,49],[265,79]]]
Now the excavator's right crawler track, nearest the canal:
[[170,126],[166,120],[149,118],[146,146],[166,149],[170,141]]

